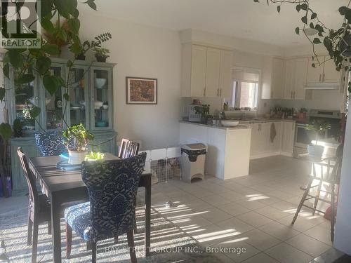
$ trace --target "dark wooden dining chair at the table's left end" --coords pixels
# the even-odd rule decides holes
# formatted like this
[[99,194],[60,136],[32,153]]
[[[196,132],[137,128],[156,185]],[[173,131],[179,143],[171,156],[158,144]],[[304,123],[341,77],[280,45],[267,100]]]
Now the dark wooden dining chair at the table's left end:
[[22,147],[18,147],[17,154],[20,158],[29,190],[27,245],[32,245],[32,263],[34,263],[37,262],[39,224],[48,222],[48,234],[51,234],[51,205],[44,194],[38,194],[35,177],[29,169]]

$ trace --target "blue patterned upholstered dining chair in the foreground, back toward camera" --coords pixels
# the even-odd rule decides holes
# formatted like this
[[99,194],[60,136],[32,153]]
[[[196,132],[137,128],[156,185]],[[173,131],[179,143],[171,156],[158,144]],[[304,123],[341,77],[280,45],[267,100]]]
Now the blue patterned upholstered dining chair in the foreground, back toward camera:
[[81,177],[88,189],[90,202],[73,205],[65,210],[67,258],[72,247],[72,229],[92,250],[96,262],[96,243],[127,234],[131,262],[137,262],[133,227],[135,197],[146,154],[128,159],[82,163]]

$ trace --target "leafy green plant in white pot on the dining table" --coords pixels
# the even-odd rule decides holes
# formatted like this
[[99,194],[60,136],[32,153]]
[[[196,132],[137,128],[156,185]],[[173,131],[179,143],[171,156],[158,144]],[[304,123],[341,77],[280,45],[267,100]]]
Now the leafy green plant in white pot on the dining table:
[[[93,133],[89,133],[83,124],[71,126],[63,132],[68,149],[68,163],[79,164],[84,161],[88,151],[88,140],[94,140]],[[74,145],[69,146],[69,145]]]

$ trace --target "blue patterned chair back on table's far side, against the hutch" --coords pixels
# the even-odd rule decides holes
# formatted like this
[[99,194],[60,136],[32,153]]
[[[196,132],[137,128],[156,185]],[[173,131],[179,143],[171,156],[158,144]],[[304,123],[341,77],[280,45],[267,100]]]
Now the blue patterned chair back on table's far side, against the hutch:
[[42,156],[53,156],[67,153],[63,143],[62,133],[59,131],[36,133],[35,143]]

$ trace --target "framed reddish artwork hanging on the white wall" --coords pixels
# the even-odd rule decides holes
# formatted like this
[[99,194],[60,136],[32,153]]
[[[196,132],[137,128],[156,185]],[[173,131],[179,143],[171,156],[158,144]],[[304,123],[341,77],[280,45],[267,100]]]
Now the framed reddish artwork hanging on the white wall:
[[126,76],[126,104],[157,104],[157,79]]

